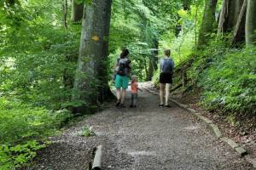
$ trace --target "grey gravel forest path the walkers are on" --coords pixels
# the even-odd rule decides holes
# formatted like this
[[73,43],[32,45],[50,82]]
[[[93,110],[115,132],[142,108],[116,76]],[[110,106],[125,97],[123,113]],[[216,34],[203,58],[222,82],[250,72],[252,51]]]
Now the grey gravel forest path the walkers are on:
[[[98,144],[103,145],[107,170],[251,169],[189,112],[174,104],[168,109],[158,104],[158,97],[145,90],[136,109],[118,109],[112,103],[53,138],[54,144],[26,169],[86,169],[90,150]],[[92,126],[96,137],[79,136],[84,125]]]

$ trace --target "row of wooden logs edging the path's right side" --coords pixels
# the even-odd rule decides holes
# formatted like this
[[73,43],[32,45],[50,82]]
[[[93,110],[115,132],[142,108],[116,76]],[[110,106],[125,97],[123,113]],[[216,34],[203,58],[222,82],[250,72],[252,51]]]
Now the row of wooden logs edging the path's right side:
[[[149,88],[145,88],[143,87],[146,91],[148,91],[148,93],[150,94],[155,94],[155,95],[159,95],[158,93],[155,93],[154,91],[150,90]],[[184,105],[180,102],[178,102],[176,99],[172,99],[170,98],[170,100],[172,101],[172,103],[178,105],[179,107],[183,108],[186,111],[189,111],[190,113],[192,113],[194,116],[198,117],[201,122],[204,122],[208,128],[210,128],[211,132],[221,141],[223,141],[224,143],[230,145],[230,147],[236,151],[236,153],[239,156],[245,156],[246,160],[251,163],[253,165],[254,168],[256,168],[256,160],[252,159],[250,156],[247,156],[247,150],[245,150],[240,144],[237,144],[234,140],[224,137],[223,134],[221,133],[221,131],[219,130],[218,126],[216,124],[214,124],[210,119],[208,119],[206,116],[202,116],[202,114],[198,111],[195,111],[194,109],[189,108],[188,105]]]

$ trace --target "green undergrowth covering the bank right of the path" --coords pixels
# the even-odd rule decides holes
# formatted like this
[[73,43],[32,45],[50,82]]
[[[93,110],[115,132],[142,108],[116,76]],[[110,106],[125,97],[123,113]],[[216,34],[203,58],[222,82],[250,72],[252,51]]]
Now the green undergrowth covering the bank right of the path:
[[[256,48],[230,48],[215,40],[195,52],[189,79],[202,88],[201,104],[239,126],[256,115]],[[248,125],[255,126],[255,122]]]

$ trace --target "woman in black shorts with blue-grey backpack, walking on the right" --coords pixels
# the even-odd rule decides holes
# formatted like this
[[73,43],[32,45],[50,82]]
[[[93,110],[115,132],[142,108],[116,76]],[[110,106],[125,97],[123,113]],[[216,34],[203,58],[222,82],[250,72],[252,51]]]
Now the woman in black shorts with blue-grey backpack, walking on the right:
[[[160,107],[171,107],[168,103],[174,62],[170,58],[171,50],[165,50],[165,57],[160,59]],[[166,105],[164,105],[164,90],[166,88]]]

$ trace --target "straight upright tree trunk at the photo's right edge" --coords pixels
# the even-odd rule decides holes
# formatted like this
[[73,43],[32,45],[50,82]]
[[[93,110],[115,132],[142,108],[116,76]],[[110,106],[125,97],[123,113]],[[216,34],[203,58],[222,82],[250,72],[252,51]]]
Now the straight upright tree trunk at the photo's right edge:
[[246,42],[247,47],[255,45],[256,36],[256,1],[247,0],[247,19],[246,19]]

